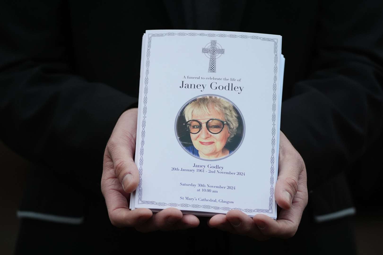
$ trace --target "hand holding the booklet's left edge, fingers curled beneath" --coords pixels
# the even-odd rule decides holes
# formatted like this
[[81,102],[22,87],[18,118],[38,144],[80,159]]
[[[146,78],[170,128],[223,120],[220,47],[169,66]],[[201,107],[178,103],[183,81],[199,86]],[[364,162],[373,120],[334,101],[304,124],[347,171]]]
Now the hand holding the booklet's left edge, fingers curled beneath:
[[139,182],[138,169],[133,161],[136,128],[137,108],[125,111],[106,145],[101,192],[111,223],[117,227],[134,227],[141,232],[198,226],[200,221],[196,216],[183,215],[176,208],[167,208],[156,214],[146,208],[129,210],[130,193],[136,190]]

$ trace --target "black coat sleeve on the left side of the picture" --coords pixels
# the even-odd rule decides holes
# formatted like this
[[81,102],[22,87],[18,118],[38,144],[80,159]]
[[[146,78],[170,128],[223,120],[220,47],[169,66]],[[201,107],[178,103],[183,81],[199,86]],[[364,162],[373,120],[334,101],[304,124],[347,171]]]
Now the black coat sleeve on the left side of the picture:
[[0,137],[31,162],[100,193],[106,142],[137,99],[74,74],[63,2],[0,2]]

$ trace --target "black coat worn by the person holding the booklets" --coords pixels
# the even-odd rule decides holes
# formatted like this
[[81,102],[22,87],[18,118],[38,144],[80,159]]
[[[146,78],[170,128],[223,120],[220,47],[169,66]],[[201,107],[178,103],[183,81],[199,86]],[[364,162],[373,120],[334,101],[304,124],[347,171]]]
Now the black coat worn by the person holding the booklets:
[[97,204],[107,219],[103,151],[137,102],[146,29],[282,35],[281,130],[306,163],[309,206],[314,216],[349,208],[341,175],[383,127],[382,5],[2,1],[0,137],[36,166],[21,210],[86,219]]

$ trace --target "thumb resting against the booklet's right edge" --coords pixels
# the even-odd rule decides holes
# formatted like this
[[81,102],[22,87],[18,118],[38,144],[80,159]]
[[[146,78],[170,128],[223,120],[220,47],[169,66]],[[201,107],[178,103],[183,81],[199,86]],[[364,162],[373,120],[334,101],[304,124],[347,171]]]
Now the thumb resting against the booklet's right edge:
[[299,175],[304,169],[304,162],[301,155],[295,150],[282,132],[280,135],[278,167],[278,180],[275,184],[275,200],[281,208],[288,209],[298,191]]

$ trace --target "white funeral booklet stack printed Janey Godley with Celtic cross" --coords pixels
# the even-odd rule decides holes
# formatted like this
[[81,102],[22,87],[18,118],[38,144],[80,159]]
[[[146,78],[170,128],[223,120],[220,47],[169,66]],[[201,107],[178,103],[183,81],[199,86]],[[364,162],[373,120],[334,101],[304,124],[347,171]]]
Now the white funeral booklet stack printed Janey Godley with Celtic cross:
[[277,218],[281,42],[273,34],[146,31],[132,210]]

